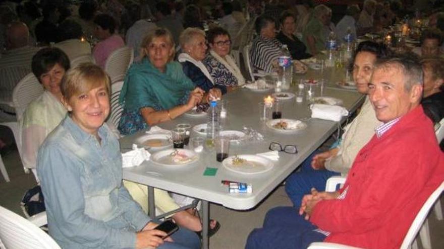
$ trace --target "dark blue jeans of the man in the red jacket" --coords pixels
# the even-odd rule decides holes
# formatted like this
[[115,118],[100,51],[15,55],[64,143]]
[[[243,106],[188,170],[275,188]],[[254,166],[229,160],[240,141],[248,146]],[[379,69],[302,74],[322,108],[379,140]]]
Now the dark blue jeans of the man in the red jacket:
[[323,241],[325,235],[299,215],[294,207],[276,207],[267,212],[262,228],[248,235],[246,249],[302,249],[312,242]]

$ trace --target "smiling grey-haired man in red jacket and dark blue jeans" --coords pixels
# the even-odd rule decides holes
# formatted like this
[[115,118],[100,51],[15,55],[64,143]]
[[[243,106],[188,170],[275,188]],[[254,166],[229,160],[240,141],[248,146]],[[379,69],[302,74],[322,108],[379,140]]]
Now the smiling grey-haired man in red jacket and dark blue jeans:
[[270,210],[246,248],[306,248],[321,240],[363,248],[401,246],[419,209],[444,181],[444,153],[419,104],[417,58],[379,61],[369,89],[383,124],[356,156],[344,187],[332,193],[313,189],[299,214],[291,207]]

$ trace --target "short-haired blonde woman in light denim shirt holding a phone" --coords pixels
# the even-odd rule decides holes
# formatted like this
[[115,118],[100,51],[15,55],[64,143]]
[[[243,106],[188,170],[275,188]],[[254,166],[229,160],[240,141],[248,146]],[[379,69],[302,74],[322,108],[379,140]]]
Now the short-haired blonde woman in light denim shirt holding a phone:
[[68,71],[62,82],[69,115],[46,138],[37,157],[49,234],[63,248],[200,248],[181,228],[163,241],[122,186],[117,137],[109,114],[109,79],[94,64]]

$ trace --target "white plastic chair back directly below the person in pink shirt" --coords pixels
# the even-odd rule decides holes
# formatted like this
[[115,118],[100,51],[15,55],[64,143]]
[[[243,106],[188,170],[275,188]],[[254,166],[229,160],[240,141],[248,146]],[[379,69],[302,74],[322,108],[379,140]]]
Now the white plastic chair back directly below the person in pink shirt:
[[105,72],[111,78],[112,84],[125,78],[133,60],[134,50],[130,47],[119,48],[108,56],[105,62]]

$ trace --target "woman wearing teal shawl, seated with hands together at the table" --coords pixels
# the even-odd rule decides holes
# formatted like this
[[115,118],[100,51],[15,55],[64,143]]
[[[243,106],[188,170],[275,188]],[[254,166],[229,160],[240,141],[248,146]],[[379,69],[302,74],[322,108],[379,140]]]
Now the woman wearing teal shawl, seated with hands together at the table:
[[119,130],[128,135],[172,120],[195,107],[204,95],[183,73],[166,29],[156,29],[142,42],[142,60],[131,65],[120,94],[124,106]]

